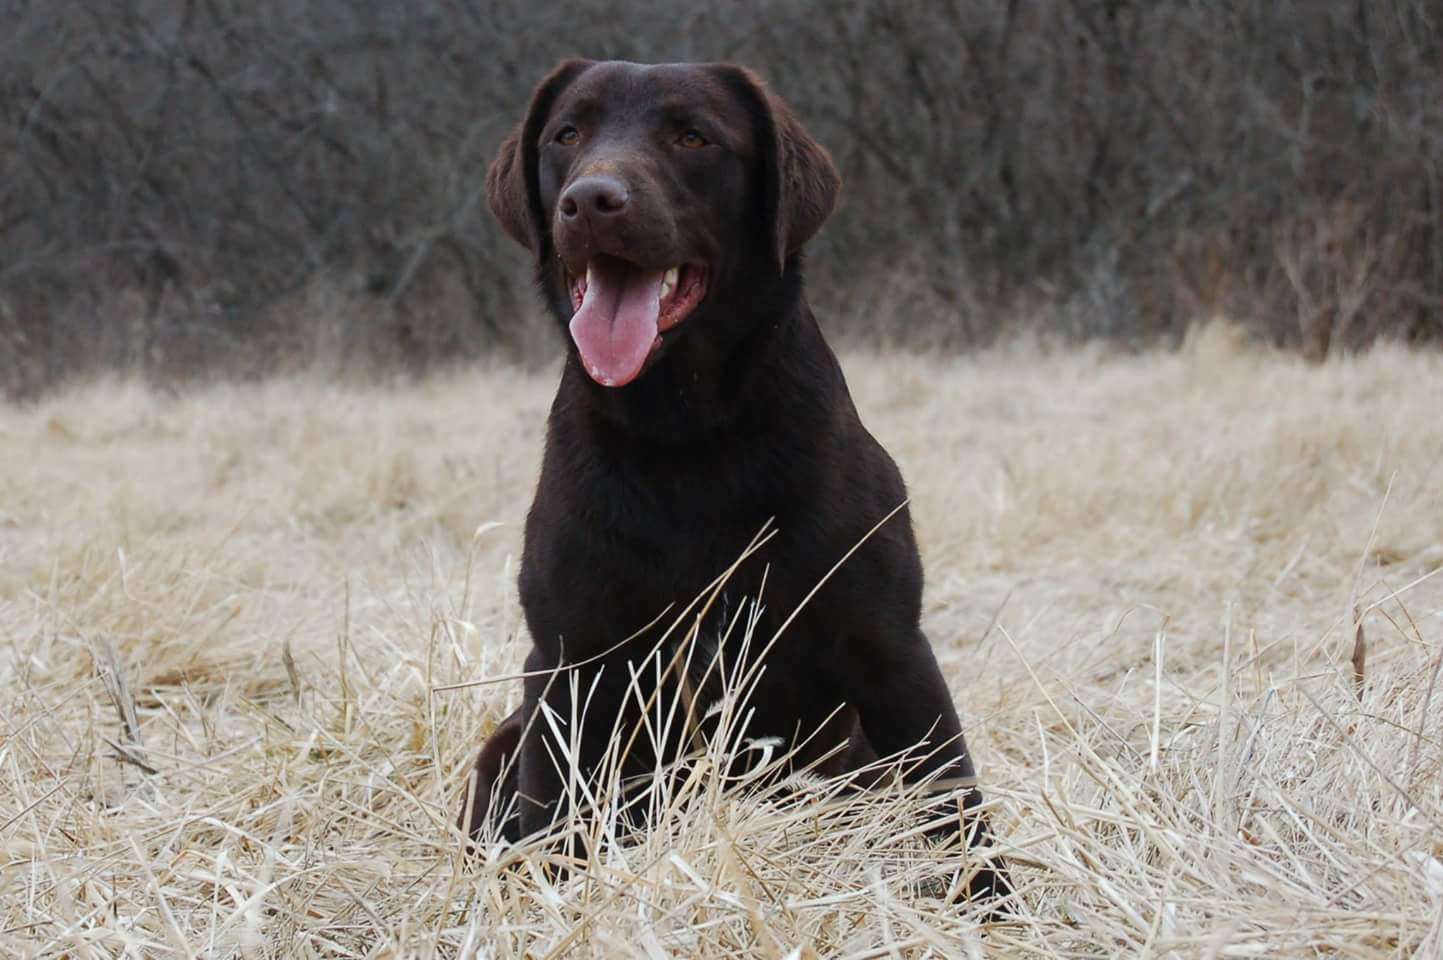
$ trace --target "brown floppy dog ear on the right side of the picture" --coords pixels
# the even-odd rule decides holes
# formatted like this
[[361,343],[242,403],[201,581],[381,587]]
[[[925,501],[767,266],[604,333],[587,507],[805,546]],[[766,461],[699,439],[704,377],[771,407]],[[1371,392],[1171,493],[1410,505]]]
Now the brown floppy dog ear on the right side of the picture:
[[763,209],[772,231],[772,254],[786,270],[786,257],[821,230],[837,205],[841,175],[827,147],[817,143],[781,97],[756,74],[730,64],[719,68],[752,110],[762,154]]

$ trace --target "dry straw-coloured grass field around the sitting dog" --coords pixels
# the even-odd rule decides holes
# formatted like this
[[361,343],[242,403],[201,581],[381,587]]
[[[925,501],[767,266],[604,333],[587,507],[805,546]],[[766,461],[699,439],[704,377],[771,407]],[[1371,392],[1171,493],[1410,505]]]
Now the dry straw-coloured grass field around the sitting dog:
[[[668,787],[553,885],[449,821],[518,696],[551,374],[0,409],[0,954],[1440,956],[1443,358],[854,355],[1022,889],[905,798]],[[1355,680],[1354,611],[1365,660]]]

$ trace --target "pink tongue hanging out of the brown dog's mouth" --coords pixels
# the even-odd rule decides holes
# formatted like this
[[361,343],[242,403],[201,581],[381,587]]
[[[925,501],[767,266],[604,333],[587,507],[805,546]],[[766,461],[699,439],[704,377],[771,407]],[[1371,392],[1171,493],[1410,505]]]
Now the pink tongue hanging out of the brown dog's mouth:
[[603,387],[625,387],[646,362],[657,341],[661,277],[661,270],[609,257],[592,261],[582,306],[571,315],[571,339],[586,372]]

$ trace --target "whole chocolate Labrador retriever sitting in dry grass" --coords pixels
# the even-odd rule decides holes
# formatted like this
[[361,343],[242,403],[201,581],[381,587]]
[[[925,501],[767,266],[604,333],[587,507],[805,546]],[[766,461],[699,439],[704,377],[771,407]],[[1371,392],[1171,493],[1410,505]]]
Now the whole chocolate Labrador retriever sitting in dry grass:
[[[781,738],[794,767],[830,774],[924,743],[906,778],[973,782],[918,627],[902,476],[857,417],[802,293],[802,245],[838,188],[791,110],[727,64],[567,61],[501,144],[491,209],[535,256],[567,362],[525,525],[524,703],[476,759],[460,819],[472,836],[519,839],[564,817],[548,741],[570,738],[592,772],[613,730],[639,720],[633,684],[646,677],[706,713],[714,684],[629,666],[662,638],[658,615],[701,595],[769,523],[775,536],[691,634],[710,654],[688,661],[714,660],[723,619],[750,598],[758,648],[786,625],[750,691],[747,736]],[[587,704],[582,729],[544,722],[543,703],[561,723],[580,713],[573,690]],[[636,738],[623,772],[654,769],[683,739]],[[964,810],[978,800],[971,790]],[[960,827],[987,842],[981,817],[954,817],[945,833]],[[984,869],[970,892],[1004,889]]]

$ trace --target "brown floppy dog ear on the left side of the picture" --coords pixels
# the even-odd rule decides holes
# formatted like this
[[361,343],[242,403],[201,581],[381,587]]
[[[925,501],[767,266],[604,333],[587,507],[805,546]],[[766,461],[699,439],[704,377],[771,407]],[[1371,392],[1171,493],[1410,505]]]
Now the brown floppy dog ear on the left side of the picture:
[[531,94],[525,120],[501,143],[496,159],[486,170],[486,202],[506,235],[531,251],[540,251],[545,224],[541,188],[537,183],[541,130],[551,114],[551,104],[592,61],[561,61]]

